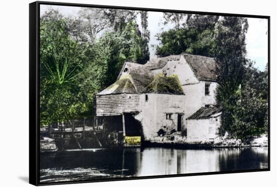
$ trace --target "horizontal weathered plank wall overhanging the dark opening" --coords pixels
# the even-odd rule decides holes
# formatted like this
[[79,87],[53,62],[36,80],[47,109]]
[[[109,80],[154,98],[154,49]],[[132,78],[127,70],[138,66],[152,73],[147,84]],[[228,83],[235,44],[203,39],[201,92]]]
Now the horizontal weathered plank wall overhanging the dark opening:
[[121,115],[123,112],[139,111],[138,94],[110,94],[96,96],[96,115]]

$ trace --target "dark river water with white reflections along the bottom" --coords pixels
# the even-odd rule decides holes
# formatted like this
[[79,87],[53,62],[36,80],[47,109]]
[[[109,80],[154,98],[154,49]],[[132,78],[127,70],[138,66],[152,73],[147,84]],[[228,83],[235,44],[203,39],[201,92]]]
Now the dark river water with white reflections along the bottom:
[[126,148],[41,153],[40,182],[93,180],[268,167],[267,148]]

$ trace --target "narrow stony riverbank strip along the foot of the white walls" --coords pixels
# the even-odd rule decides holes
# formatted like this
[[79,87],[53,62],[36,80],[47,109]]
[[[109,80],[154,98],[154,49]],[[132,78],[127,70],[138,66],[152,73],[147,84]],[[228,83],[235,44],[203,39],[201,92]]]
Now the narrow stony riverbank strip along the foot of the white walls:
[[266,134],[241,141],[240,139],[217,137],[213,141],[189,141],[187,137],[172,134],[164,137],[153,137],[143,143],[145,147],[174,147],[174,148],[238,148],[238,147],[268,147]]

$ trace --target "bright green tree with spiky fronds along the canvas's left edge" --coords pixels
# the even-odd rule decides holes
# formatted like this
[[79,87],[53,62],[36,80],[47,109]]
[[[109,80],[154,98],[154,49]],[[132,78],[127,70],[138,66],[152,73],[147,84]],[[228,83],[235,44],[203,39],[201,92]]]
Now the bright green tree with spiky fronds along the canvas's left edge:
[[73,40],[68,19],[55,10],[40,19],[41,124],[63,122],[89,111],[97,83],[86,87],[91,60],[89,45]]

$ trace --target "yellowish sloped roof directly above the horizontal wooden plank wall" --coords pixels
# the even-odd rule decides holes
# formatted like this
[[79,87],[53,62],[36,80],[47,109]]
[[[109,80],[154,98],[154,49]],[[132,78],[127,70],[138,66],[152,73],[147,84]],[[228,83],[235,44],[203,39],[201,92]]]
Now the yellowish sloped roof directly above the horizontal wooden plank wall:
[[117,80],[111,86],[101,91],[97,95],[107,95],[107,94],[119,94],[119,93],[136,93],[136,90],[131,82],[131,80],[126,77]]

